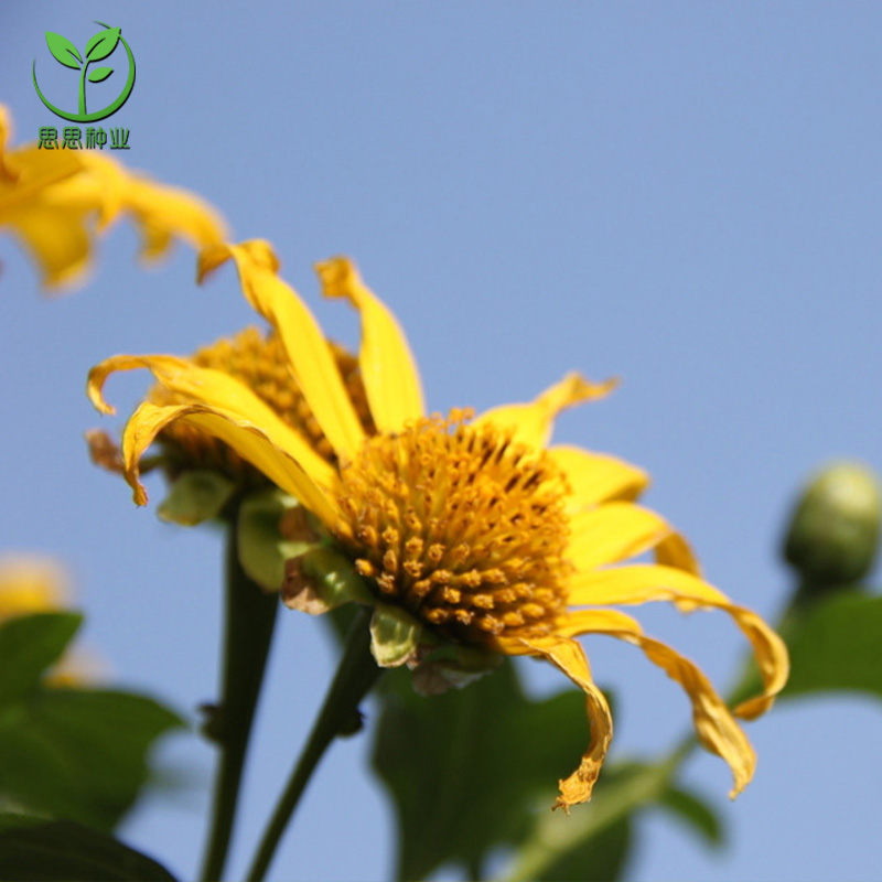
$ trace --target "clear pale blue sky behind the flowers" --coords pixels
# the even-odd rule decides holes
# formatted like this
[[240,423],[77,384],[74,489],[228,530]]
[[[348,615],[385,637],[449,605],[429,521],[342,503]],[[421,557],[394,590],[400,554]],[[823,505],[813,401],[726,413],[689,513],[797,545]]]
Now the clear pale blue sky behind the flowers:
[[[44,31],[83,45],[96,19],[138,63],[114,118],[129,164],[203,194],[237,238],[271,239],[349,342],[352,315],[316,304],[311,266],[354,257],[407,329],[432,408],[524,399],[572,368],[621,376],[557,440],[649,470],[647,503],[744,605],[783,603],[775,549],[807,471],[841,455],[882,469],[878,3],[4,3],[0,100],[19,141],[51,125],[31,84]],[[190,712],[215,695],[220,544],[136,509],[89,464],[84,430],[121,421],[83,387],[107,355],[187,353],[251,315],[232,272],[200,290],[186,248],[150,272],[135,250],[123,225],[93,283],[49,301],[0,237],[0,547],[66,560],[88,644],[121,682]],[[109,395],[126,413],[146,385],[117,378]],[[281,619],[234,873],[331,674],[321,625]],[[725,620],[644,621],[721,686],[734,676],[743,647]],[[614,755],[667,749],[688,723],[677,687],[630,647],[588,648],[621,699]],[[567,687],[527,669],[538,690]],[[750,735],[760,766],[734,804],[719,760],[687,768],[727,816],[729,849],[653,816],[633,878],[878,878],[882,708],[782,706]],[[367,744],[336,745],[277,879],[388,874]],[[180,736],[160,759],[194,787],[122,833],[186,878],[212,752]]]

